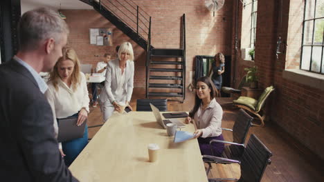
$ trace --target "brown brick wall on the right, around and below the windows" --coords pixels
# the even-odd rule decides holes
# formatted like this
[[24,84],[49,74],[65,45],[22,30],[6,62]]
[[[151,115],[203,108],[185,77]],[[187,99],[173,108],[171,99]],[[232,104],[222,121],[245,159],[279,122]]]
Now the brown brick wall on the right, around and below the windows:
[[[255,61],[237,58],[237,77],[244,67],[258,65],[261,88],[276,88],[267,103],[269,119],[324,159],[324,91],[282,77],[285,69],[299,68],[304,1],[282,2],[280,26],[280,1],[258,0]],[[279,35],[287,50],[276,59]]]

